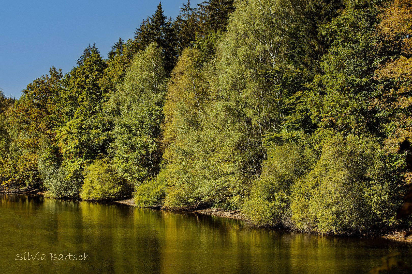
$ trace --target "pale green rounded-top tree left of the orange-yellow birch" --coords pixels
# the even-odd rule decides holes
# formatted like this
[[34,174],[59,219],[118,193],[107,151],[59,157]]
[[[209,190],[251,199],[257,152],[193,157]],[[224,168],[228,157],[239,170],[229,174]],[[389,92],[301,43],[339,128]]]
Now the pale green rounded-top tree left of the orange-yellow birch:
[[114,161],[127,180],[139,182],[159,172],[162,161],[160,125],[163,122],[166,73],[162,51],[150,44],[136,54],[122,85],[112,97],[119,108],[113,130]]

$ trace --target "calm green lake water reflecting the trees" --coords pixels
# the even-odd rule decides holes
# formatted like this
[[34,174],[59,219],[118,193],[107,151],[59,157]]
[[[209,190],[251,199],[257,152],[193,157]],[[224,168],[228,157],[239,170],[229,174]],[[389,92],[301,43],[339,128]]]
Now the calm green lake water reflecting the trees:
[[2,273],[367,273],[395,252],[412,265],[412,244],[391,240],[33,195],[0,194],[0,231]]

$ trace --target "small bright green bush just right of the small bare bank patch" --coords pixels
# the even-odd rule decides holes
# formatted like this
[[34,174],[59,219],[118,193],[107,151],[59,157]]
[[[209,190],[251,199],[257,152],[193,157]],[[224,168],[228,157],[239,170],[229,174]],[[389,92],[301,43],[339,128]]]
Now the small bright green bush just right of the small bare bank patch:
[[147,180],[136,187],[135,204],[139,207],[162,207],[166,189],[167,182],[161,172],[156,179]]

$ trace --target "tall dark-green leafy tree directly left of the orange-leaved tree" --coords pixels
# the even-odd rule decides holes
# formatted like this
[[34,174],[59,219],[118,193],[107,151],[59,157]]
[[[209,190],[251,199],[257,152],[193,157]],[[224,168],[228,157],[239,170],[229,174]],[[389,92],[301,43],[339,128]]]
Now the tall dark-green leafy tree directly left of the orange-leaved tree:
[[342,14],[322,26],[331,42],[323,56],[323,74],[314,81],[311,94],[312,119],[319,127],[355,135],[376,133],[375,109],[370,97],[377,86],[373,78],[377,56],[376,6],[353,2]]

